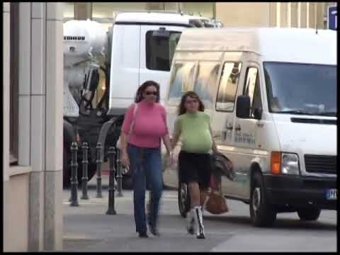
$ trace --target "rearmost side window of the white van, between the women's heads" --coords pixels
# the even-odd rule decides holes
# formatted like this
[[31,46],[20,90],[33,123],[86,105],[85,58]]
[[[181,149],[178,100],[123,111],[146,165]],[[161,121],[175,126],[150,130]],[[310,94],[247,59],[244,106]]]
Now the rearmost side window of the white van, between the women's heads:
[[186,91],[193,90],[196,62],[176,62],[171,72],[169,99],[178,98]]

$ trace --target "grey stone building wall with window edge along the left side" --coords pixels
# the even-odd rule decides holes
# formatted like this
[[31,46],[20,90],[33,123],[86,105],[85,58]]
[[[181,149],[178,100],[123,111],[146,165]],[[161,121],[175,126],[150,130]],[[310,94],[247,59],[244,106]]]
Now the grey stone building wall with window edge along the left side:
[[3,3],[4,251],[62,250],[62,3]]

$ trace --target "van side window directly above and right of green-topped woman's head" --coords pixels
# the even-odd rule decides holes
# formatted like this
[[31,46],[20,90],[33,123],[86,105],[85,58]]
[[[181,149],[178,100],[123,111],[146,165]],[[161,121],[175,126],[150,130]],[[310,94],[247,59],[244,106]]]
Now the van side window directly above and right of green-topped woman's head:
[[198,75],[193,90],[211,106],[217,75],[220,69],[218,62],[199,62]]

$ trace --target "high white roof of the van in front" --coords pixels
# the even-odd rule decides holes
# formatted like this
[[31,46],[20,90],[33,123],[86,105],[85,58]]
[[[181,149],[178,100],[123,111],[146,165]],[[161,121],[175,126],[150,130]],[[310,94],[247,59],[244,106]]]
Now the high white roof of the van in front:
[[312,28],[185,29],[177,51],[249,51],[263,61],[336,64],[336,31]]

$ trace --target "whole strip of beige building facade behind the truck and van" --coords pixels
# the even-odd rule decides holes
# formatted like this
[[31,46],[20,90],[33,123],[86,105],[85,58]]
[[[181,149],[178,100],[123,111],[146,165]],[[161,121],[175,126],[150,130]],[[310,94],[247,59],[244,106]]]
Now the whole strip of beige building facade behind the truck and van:
[[183,11],[225,26],[327,28],[327,7],[336,2],[86,2],[64,3],[64,21],[113,22],[114,11]]

